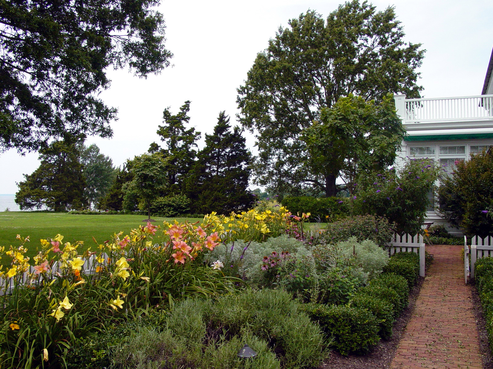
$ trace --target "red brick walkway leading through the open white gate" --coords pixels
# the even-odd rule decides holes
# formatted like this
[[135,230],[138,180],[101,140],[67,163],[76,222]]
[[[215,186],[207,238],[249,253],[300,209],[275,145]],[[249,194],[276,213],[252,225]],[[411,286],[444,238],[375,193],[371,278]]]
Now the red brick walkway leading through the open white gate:
[[462,246],[426,246],[435,259],[392,360],[392,369],[481,369]]

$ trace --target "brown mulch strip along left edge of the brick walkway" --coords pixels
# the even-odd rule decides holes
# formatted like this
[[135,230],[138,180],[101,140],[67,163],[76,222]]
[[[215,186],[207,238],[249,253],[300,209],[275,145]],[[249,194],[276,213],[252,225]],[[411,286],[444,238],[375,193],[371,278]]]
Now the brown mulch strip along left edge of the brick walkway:
[[397,321],[394,323],[392,337],[388,340],[380,340],[380,343],[374,347],[368,355],[343,356],[335,351],[330,351],[329,357],[323,362],[319,369],[390,368],[390,363],[395,355],[395,351],[397,350],[397,345],[399,344],[402,333],[411,319],[411,315],[416,305],[416,300],[420,294],[423,281],[424,278],[420,277],[416,286],[409,293],[409,305],[404,309],[399,318],[397,318]]

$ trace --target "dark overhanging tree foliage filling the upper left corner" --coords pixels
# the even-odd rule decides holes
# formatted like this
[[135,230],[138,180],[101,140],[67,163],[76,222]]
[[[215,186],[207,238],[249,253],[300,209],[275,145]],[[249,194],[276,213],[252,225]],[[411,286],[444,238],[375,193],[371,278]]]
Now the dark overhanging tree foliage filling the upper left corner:
[[51,138],[111,136],[116,109],[98,94],[108,68],[145,77],[169,65],[156,0],[0,3],[0,153]]

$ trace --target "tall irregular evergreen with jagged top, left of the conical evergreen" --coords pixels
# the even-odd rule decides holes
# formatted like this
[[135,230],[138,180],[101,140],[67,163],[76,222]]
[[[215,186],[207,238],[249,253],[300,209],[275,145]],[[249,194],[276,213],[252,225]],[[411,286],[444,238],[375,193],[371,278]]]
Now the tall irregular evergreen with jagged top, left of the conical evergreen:
[[190,117],[187,116],[189,110],[190,101],[185,101],[176,115],[172,115],[169,108],[166,108],[163,112],[165,125],[159,125],[157,130],[165,148],[160,148],[153,142],[148,150],[149,153],[160,152],[165,158],[169,158],[166,164],[169,187],[164,195],[181,193],[183,180],[190,172],[197,155],[193,147],[197,147],[200,132],[195,132],[193,127],[185,128],[185,124],[190,122]]

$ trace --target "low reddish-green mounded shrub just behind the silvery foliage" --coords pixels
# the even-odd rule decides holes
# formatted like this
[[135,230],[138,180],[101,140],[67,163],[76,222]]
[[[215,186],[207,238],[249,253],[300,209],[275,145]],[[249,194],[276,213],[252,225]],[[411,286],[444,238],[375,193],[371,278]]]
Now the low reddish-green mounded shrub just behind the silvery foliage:
[[386,218],[375,215],[354,215],[327,224],[321,234],[322,242],[336,244],[356,237],[358,242],[373,241],[378,246],[387,246],[392,239],[393,230]]

